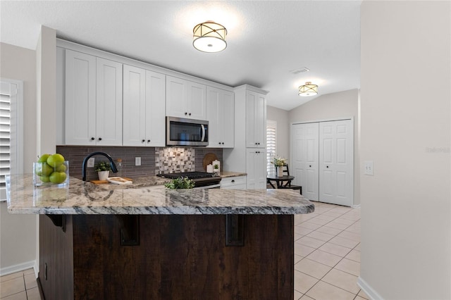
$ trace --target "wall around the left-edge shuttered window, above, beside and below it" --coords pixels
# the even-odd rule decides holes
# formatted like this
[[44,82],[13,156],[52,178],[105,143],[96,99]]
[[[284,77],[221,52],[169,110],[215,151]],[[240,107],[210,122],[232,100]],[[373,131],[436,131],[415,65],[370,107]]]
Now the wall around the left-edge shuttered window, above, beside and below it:
[[[23,168],[30,173],[36,144],[36,51],[0,43],[0,77],[22,80],[24,108]],[[11,215],[0,204],[0,274],[32,267],[36,216]]]

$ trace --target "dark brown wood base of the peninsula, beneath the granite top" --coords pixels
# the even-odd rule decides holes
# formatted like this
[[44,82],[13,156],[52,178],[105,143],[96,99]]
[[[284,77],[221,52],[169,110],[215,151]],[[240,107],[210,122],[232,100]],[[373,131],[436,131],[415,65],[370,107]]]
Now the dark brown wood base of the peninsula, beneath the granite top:
[[294,216],[241,216],[228,234],[244,244],[227,246],[240,241],[226,240],[226,215],[39,215],[39,288],[58,300],[293,299]]

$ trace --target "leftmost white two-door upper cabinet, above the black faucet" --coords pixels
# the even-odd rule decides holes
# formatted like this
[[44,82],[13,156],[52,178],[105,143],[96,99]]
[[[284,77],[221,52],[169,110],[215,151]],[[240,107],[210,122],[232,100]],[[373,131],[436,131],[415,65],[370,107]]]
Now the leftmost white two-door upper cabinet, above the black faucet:
[[66,144],[122,145],[122,63],[66,50]]

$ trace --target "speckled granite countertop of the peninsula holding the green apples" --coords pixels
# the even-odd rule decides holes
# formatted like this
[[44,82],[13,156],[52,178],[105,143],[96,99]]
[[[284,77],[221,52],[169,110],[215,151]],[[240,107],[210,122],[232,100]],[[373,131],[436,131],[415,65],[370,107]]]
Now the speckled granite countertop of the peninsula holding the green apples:
[[36,214],[300,214],[314,204],[291,189],[166,189],[149,176],[133,185],[94,185],[70,177],[68,187],[34,187],[32,175],[7,178],[9,213]]

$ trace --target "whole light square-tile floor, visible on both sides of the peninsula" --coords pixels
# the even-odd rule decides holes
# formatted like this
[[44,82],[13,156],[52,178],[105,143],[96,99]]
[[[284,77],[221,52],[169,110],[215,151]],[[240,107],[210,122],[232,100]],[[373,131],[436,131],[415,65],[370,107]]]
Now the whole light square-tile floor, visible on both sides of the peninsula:
[[[369,299],[360,274],[360,210],[314,202],[295,215],[295,300]],[[40,299],[33,270],[0,277],[0,299]]]

